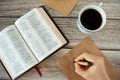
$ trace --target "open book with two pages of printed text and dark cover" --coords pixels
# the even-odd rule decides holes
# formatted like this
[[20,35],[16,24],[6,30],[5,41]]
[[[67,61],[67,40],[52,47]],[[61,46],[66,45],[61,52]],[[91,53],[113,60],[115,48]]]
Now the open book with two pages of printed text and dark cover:
[[45,10],[35,8],[0,32],[0,59],[16,79],[66,43]]

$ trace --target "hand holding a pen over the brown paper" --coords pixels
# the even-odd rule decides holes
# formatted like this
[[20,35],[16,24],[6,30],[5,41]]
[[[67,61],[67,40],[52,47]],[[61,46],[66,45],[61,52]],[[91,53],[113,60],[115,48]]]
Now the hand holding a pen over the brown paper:
[[110,80],[105,69],[104,59],[102,57],[83,53],[74,61],[88,61],[93,63],[91,67],[86,67],[75,63],[75,72],[86,80]]

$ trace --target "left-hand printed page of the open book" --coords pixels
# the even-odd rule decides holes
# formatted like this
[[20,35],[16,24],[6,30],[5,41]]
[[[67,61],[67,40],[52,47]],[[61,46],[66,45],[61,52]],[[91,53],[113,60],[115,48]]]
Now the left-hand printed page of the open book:
[[14,79],[38,63],[14,25],[0,32],[0,58]]

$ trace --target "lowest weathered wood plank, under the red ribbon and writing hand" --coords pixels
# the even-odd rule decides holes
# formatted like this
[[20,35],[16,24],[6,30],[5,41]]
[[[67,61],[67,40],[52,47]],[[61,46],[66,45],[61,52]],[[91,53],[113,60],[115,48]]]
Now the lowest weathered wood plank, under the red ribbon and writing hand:
[[[22,75],[18,80],[67,80],[67,78],[63,75],[63,73],[58,69],[56,65],[56,61],[59,60],[63,55],[65,55],[71,49],[61,49],[55,54],[48,57],[42,63],[38,65],[40,70],[42,71],[43,77],[40,78],[37,72],[32,69]],[[103,54],[108,58],[108,60],[114,65],[117,70],[120,72],[120,51],[105,51],[102,50]],[[8,79],[1,70],[2,67],[0,66],[0,74],[1,77]]]

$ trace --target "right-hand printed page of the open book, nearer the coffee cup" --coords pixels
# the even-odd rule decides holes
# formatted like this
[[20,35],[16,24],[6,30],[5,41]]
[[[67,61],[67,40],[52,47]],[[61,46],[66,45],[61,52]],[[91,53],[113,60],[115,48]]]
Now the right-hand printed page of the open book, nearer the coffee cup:
[[39,61],[62,45],[37,9],[31,10],[19,18],[15,25]]

